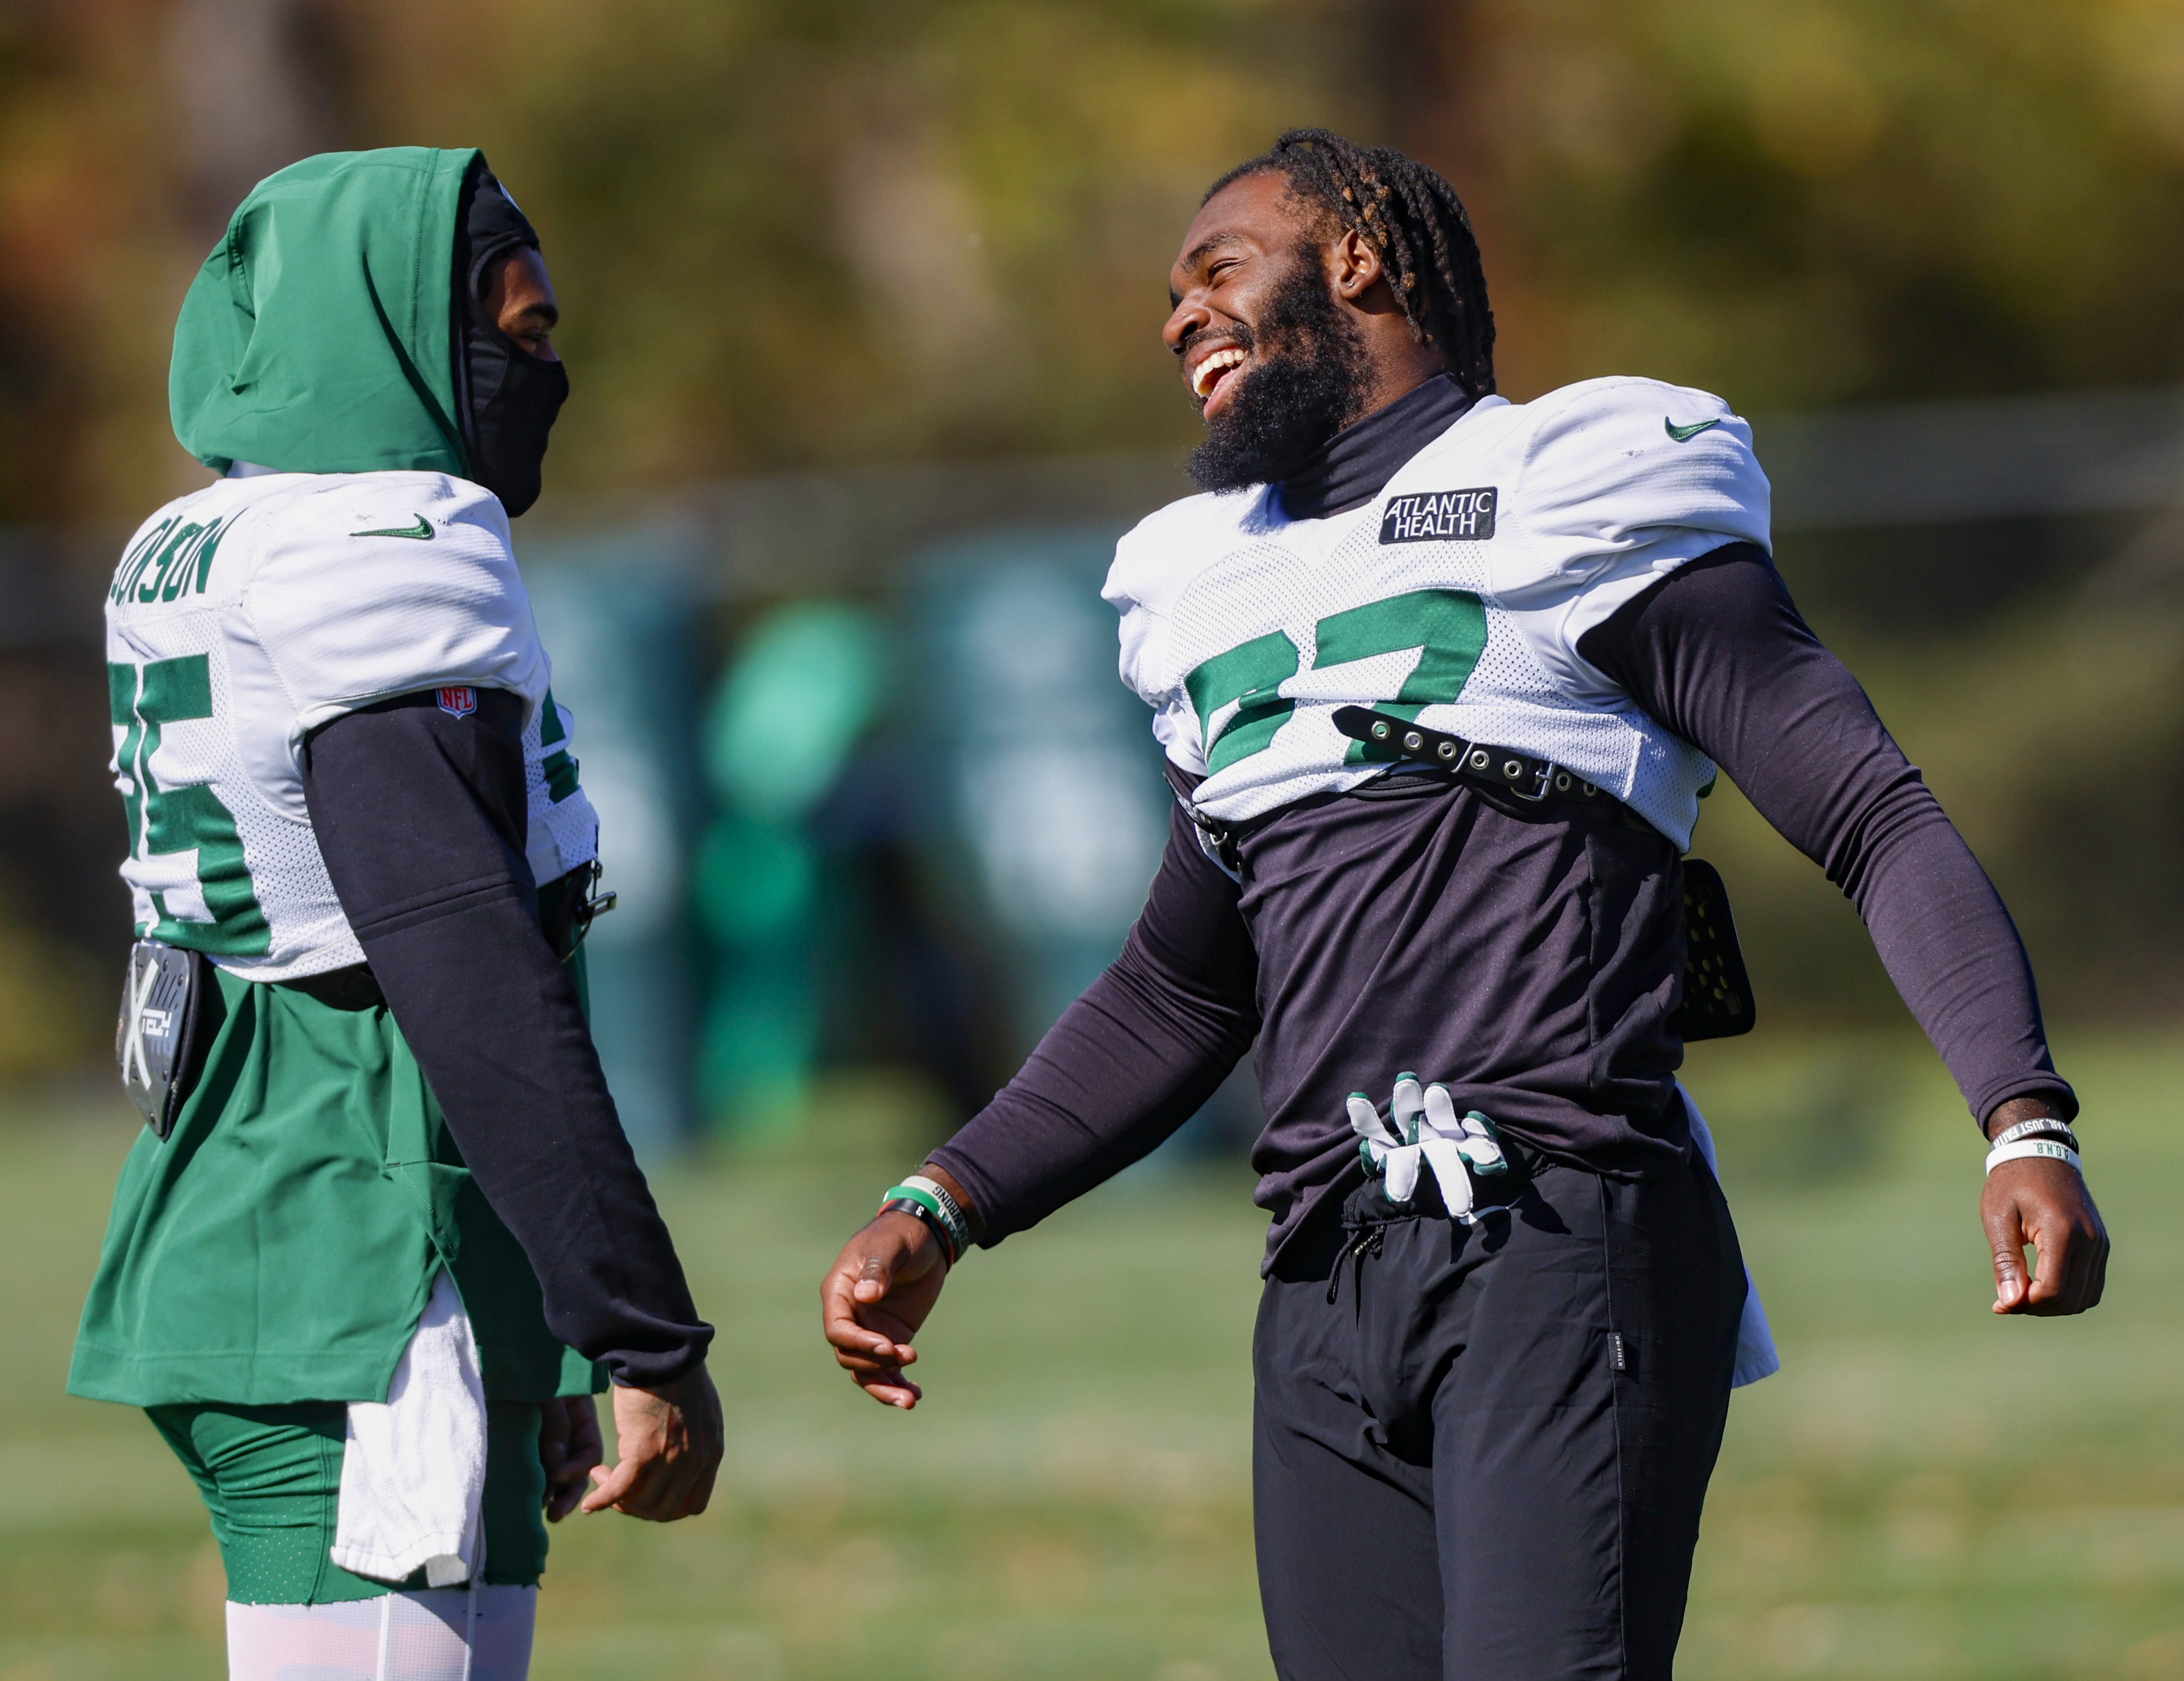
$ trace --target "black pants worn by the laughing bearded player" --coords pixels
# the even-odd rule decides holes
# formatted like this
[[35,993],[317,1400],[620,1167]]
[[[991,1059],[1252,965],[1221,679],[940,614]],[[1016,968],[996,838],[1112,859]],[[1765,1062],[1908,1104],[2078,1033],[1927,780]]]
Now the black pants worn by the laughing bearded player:
[[1282,1681],[1669,1681],[1736,1231],[1697,1157],[1511,1190],[1461,1227],[1431,1175],[1431,1214],[1369,1183],[1267,1279],[1254,1509]]

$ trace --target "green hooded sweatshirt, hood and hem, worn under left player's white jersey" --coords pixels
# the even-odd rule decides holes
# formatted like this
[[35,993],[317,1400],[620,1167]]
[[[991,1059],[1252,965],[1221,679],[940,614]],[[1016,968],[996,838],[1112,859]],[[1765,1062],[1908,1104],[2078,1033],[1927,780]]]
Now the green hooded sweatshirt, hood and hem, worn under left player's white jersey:
[[[175,325],[175,434],[199,461],[461,474],[454,216],[476,155],[330,153],[258,183]],[[441,1264],[487,1397],[601,1384],[546,1327],[391,1011],[214,982],[203,1074],[122,1166],[70,1393],[384,1399]]]

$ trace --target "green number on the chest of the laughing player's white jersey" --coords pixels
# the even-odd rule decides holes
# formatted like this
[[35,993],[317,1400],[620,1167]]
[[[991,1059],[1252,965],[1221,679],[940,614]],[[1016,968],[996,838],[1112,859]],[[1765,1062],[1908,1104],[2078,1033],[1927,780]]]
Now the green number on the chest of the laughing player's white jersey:
[[[1319,646],[1313,670],[1417,648],[1417,666],[1402,679],[1402,688],[1391,701],[1378,703],[1380,712],[1415,718],[1424,707],[1455,701],[1463,692],[1487,646],[1487,609],[1470,589],[1409,589],[1328,613],[1315,627],[1313,640]],[[1208,729],[1206,720],[1230,701],[1243,703],[1219,731],[1208,729],[1208,775],[1219,775],[1273,740],[1273,731],[1297,710],[1295,701],[1282,699],[1280,685],[1302,670],[1304,657],[1297,644],[1273,631],[1241,648],[1216,653],[1184,679],[1184,692],[1197,707],[1201,729]],[[1385,747],[1350,742],[1343,764],[1385,758],[1396,755]]]

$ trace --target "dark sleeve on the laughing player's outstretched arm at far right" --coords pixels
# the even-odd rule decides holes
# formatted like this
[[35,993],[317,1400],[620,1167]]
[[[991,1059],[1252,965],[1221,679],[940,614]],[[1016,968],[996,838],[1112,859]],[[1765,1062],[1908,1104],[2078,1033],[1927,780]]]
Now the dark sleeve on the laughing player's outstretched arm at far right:
[[1577,651],[1843,889],[1979,1120],[2018,1096],[2077,1113],[2001,895],[1765,550],[1677,568]]

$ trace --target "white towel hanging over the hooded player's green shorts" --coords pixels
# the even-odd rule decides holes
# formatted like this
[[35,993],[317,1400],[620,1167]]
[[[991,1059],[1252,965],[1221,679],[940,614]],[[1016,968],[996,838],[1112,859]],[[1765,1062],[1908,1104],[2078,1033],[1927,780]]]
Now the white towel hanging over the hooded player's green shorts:
[[441,1268],[384,1402],[349,1404],[332,1559],[373,1581],[424,1565],[452,1587],[485,1565],[485,1382],[454,1279]]

